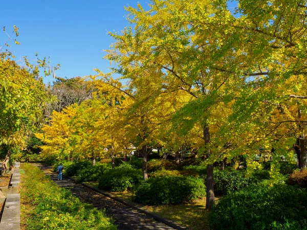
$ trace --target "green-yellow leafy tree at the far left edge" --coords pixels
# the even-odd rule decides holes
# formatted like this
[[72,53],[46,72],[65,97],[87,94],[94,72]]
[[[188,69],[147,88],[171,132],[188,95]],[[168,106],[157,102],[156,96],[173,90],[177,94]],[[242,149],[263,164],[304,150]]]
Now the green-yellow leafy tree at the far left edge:
[[7,48],[10,40],[19,44],[14,38],[19,35],[18,28],[14,26],[12,34],[7,35],[7,42],[0,47],[0,151],[5,154],[5,170],[9,169],[12,153],[25,149],[29,137],[41,127],[44,108],[52,101],[39,77],[39,69],[50,75],[59,67],[51,67],[48,59],[39,59],[37,55],[35,62],[27,57],[19,63],[14,61]]

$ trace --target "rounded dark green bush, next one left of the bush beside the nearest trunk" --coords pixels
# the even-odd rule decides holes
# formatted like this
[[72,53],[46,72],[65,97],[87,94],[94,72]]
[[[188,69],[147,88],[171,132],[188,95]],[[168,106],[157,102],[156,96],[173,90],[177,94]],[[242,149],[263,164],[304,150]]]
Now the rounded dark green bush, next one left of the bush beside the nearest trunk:
[[98,187],[100,189],[121,192],[135,188],[142,179],[143,174],[141,170],[115,168],[101,175]]

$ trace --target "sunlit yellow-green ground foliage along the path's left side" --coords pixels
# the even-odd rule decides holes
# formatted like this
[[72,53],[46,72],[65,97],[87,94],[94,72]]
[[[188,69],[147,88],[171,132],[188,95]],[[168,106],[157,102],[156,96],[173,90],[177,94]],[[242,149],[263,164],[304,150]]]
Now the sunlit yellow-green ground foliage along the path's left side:
[[26,173],[21,174],[21,202],[33,207],[26,213],[21,212],[27,229],[116,229],[103,211],[81,203],[38,168],[30,164],[24,164],[22,168]]

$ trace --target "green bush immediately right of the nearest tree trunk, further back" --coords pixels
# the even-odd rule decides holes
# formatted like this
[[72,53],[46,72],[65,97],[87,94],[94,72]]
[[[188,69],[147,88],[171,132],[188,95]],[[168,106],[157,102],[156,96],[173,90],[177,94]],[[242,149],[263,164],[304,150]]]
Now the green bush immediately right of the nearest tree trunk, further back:
[[[206,179],[206,178],[205,178]],[[214,194],[223,196],[230,192],[242,189],[251,183],[251,178],[245,178],[245,171],[238,170],[214,170]]]

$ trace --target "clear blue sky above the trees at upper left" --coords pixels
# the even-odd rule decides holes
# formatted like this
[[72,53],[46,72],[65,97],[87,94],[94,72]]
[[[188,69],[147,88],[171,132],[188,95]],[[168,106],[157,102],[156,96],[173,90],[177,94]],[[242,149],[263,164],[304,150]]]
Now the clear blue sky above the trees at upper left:
[[[13,25],[19,28],[11,51],[17,58],[50,57],[51,64],[59,63],[58,77],[76,77],[95,74],[94,68],[108,72],[109,62],[104,52],[113,42],[107,31],[121,31],[128,25],[124,6],[147,5],[146,0],[3,0],[0,27],[7,32]],[[0,31],[0,46],[7,40]],[[46,77],[44,82],[52,82]]]

